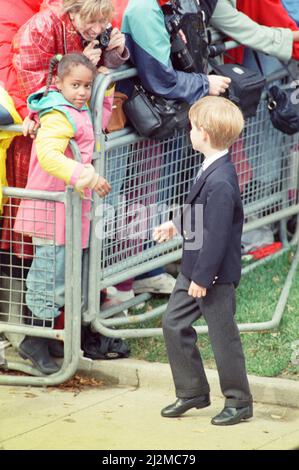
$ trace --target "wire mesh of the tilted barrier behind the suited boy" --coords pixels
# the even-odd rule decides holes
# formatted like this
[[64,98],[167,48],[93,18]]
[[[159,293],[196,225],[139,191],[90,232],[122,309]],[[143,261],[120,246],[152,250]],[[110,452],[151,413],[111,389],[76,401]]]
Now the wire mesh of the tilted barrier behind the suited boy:
[[[232,148],[245,225],[298,202],[298,154],[298,134],[287,136],[276,130],[262,99]],[[155,245],[152,231],[181,207],[200,162],[188,131],[105,152],[104,172],[112,192],[95,208],[98,223],[93,233],[102,240],[100,279],[181,246],[180,239]]]

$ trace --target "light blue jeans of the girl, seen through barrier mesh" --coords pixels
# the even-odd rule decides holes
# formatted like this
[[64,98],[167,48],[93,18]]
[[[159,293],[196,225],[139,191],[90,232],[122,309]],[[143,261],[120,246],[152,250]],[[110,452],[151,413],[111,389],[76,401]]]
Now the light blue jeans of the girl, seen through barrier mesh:
[[26,303],[35,317],[45,319],[60,315],[65,295],[64,267],[64,246],[35,246],[26,280]]

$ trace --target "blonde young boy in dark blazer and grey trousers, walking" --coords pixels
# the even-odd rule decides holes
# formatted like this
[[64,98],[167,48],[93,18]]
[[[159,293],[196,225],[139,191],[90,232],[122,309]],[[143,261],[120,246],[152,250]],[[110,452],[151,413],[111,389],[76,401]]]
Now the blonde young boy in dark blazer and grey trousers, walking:
[[244,216],[228,151],[242,132],[244,119],[231,101],[213,96],[197,101],[189,118],[193,148],[205,159],[180,217],[154,230],[159,243],[177,233],[184,238],[181,273],[163,318],[177,400],[161,414],[177,417],[190,408],[210,405],[210,388],[192,327],[202,315],[225,397],[223,410],[211,422],[232,425],[252,417],[252,396],[234,319]]

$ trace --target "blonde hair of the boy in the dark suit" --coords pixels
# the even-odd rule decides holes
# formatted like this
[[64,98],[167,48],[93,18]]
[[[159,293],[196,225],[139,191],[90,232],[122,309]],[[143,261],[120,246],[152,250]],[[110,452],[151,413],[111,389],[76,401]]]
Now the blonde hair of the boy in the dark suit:
[[197,129],[202,127],[208,133],[211,146],[219,150],[229,148],[244,127],[240,109],[219,96],[206,96],[196,101],[189,110],[189,119]]

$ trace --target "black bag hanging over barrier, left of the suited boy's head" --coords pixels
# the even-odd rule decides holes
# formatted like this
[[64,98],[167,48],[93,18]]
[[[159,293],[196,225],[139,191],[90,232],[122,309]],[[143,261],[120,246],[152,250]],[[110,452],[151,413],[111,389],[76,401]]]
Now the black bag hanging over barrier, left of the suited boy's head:
[[154,96],[141,84],[134,85],[124,111],[138,134],[151,139],[165,139],[188,127],[189,104]]

